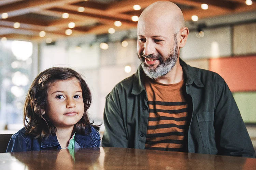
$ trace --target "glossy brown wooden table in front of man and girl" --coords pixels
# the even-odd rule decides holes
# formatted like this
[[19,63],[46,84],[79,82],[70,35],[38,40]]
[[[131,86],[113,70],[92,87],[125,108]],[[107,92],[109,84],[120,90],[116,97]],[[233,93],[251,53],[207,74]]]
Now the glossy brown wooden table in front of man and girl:
[[1,170],[256,169],[255,158],[126,148],[81,148],[0,154]]

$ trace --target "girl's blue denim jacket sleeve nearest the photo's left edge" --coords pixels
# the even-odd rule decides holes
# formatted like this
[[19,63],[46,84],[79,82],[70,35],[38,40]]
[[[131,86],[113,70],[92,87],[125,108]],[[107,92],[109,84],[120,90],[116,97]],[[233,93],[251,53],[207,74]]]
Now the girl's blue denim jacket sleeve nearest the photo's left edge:
[[6,152],[22,152],[28,151],[27,149],[27,142],[23,136],[15,133],[7,146]]

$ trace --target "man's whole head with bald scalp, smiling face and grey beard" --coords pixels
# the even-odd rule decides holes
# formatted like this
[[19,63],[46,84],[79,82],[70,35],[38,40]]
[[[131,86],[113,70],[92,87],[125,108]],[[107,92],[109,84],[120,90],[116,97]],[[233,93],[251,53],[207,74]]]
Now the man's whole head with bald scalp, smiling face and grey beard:
[[137,32],[137,51],[144,73],[158,79],[174,67],[182,70],[178,58],[188,34],[181,9],[174,3],[158,1],[146,7]]

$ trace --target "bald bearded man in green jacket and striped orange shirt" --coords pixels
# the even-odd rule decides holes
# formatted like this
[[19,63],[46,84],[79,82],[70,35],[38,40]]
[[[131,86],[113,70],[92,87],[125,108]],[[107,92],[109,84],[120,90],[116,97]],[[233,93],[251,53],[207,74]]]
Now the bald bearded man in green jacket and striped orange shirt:
[[172,2],[142,12],[141,66],[106,97],[102,146],[255,157],[224,79],[179,58],[188,34]]

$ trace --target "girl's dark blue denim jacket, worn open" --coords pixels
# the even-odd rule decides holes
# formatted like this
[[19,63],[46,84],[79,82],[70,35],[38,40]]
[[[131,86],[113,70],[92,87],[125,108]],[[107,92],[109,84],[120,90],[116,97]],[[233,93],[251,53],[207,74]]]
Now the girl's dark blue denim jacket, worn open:
[[[49,138],[34,139],[32,135],[25,135],[25,127],[15,133],[8,144],[6,152],[37,151],[49,149],[61,149],[56,134]],[[100,146],[100,134],[93,126],[91,132],[85,130],[85,134],[75,134],[75,148],[91,148]]]

